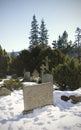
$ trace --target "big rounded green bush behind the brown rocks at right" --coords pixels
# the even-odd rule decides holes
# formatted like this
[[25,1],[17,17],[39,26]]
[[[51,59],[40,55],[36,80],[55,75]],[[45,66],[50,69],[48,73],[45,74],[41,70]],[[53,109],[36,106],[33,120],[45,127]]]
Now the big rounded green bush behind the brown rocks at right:
[[61,89],[69,86],[71,90],[75,90],[81,87],[81,64],[75,59],[67,60],[53,69],[53,76]]

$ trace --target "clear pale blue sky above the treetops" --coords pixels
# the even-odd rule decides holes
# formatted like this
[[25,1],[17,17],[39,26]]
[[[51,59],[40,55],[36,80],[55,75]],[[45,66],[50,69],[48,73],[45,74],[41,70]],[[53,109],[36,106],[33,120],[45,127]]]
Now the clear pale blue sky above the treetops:
[[49,45],[66,30],[74,41],[75,30],[81,28],[81,0],[0,0],[0,45],[6,51],[29,47],[33,15],[40,26],[44,18]]

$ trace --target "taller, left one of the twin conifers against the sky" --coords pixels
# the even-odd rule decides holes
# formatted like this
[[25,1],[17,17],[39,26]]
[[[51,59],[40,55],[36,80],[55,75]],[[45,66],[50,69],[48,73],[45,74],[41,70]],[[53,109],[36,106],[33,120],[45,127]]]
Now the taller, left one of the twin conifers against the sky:
[[30,46],[29,48],[35,48],[39,44],[39,38],[38,38],[38,22],[36,20],[36,16],[33,15],[33,20],[31,22],[31,32],[30,32]]

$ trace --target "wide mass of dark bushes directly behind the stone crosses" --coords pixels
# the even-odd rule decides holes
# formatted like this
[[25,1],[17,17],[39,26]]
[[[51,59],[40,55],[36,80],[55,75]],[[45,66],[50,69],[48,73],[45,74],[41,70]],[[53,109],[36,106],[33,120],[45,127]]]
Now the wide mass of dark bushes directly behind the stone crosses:
[[32,72],[36,69],[40,73],[40,66],[45,64],[45,58],[50,59],[50,71],[58,64],[64,63],[66,56],[59,50],[52,50],[51,47],[43,48],[41,45],[32,48],[32,50],[22,50],[16,57],[12,57],[10,64],[10,74],[17,74],[17,76],[24,75],[24,69]]

